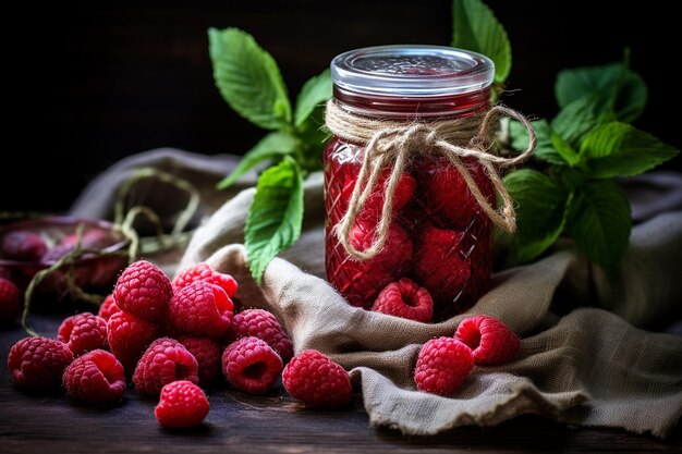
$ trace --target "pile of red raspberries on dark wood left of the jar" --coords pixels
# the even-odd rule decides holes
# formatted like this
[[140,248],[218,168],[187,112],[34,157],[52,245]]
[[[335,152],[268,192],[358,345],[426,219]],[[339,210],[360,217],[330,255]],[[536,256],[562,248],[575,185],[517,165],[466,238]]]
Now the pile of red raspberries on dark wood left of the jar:
[[[3,292],[0,281],[0,297]],[[171,282],[157,266],[139,260],[121,273],[98,315],[68,317],[57,340],[20,340],[8,366],[22,389],[61,385],[69,396],[92,404],[120,403],[132,388],[158,400],[155,415],[170,428],[200,424],[209,412],[206,391],[226,382],[265,394],[281,380],[306,406],[348,405],[348,372],[317,351],[294,357],[271,312],[235,312],[236,292],[231,275],[207,263],[183,270]]]

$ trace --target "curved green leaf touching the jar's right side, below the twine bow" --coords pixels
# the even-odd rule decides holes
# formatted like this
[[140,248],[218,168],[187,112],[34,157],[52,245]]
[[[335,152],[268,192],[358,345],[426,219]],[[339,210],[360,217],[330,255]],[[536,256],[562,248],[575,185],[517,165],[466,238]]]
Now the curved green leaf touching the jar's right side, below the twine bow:
[[511,266],[536,258],[557,241],[569,194],[549,176],[531,169],[511,172],[503,182],[516,206],[519,228],[507,258]]

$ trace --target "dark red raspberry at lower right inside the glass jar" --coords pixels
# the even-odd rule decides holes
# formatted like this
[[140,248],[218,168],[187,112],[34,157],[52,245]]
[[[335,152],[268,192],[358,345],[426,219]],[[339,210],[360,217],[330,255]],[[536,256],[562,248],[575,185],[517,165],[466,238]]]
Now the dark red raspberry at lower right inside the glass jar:
[[463,232],[431,225],[419,235],[413,273],[415,281],[434,298],[435,319],[444,319],[467,308],[459,302],[472,272],[461,250],[463,236]]

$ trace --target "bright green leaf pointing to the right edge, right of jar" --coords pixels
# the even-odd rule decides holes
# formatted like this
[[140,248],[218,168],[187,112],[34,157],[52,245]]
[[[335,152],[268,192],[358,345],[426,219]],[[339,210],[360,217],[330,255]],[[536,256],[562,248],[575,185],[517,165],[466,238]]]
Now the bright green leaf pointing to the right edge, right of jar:
[[679,154],[674,147],[629,124],[612,122],[590,132],[582,143],[581,160],[595,179],[646,172]]

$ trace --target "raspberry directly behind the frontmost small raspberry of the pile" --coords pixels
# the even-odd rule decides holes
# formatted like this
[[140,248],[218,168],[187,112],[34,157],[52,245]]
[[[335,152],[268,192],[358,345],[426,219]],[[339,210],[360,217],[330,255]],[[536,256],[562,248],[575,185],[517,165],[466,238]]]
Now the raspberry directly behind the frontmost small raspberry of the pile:
[[175,380],[197,383],[199,365],[187,348],[170,338],[154,341],[142,355],[133,383],[141,394],[158,395],[165,384]]

